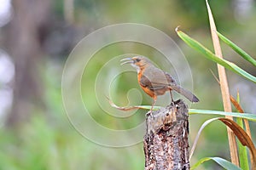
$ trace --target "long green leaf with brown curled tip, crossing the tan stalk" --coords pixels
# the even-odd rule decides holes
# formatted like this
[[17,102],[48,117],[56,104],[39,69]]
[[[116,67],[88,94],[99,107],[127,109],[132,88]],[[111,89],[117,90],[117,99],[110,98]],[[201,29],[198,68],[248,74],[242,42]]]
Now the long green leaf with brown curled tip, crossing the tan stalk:
[[211,59],[212,61],[218,63],[219,65],[223,65],[225,68],[229,69],[230,71],[235,72],[236,74],[247,78],[248,80],[256,83],[256,77],[253,77],[253,75],[247,73],[247,71],[242,70],[240,67],[235,65],[234,63],[231,63],[230,61],[226,59],[218,58],[215,54],[213,54],[209,49],[204,47],[200,42],[195,41],[195,39],[189,37],[187,34],[185,34],[183,31],[177,31],[177,35],[186,42],[191,48],[195,48],[195,50],[201,52],[204,54],[204,56],[207,59]]

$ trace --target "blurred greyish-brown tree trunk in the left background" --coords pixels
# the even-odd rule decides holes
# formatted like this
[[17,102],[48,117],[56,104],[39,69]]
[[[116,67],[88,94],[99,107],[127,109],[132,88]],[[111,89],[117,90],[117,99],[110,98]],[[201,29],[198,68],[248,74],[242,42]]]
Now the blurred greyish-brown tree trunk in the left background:
[[7,31],[7,48],[15,62],[14,99],[7,125],[25,122],[33,111],[42,109],[43,84],[41,42],[49,20],[49,0],[13,0],[14,17]]

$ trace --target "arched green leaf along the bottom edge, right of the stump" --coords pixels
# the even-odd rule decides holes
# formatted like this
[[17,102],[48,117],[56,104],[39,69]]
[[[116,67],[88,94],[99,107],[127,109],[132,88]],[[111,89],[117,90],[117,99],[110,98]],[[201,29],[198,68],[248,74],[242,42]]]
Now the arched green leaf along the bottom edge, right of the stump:
[[191,170],[195,169],[195,167],[200,166],[203,162],[209,160],[215,161],[216,163],[218,163],[218,165],[224,167],[225,169],[241,170],[240,167],[236,167],[236,165],[234,165],[230,161],[224,160],[221,157],[204,157],[200,161],[196,162],[195,165],[191,167]]

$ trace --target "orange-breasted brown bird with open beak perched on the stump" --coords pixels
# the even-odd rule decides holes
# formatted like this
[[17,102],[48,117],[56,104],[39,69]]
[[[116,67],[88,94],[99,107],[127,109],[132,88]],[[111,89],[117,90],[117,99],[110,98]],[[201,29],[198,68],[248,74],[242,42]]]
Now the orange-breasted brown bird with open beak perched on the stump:
[[172,102],[172,90],[189,99],[191,102],[199,102],[199,99],[192,94],[189,90],[182,88],[174,78],[166,71],[160,70],[152,62],[144,56],[135,56],[132,58],[125,58],[120,60],[121,65],[131,64],[137,70],[137,81],[143,91],[154,99],[150,111],[153,111],[157,96],[166,94],[169,91],[171,94]]

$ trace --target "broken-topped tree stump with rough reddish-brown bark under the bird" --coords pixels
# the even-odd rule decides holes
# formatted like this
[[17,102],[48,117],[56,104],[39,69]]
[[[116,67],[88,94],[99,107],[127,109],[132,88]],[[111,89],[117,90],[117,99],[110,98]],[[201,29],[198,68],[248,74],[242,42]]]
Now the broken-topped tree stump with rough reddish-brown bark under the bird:
[[183,100],[148,112],[145,170],[189,169],[189,115]]

